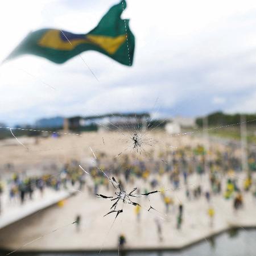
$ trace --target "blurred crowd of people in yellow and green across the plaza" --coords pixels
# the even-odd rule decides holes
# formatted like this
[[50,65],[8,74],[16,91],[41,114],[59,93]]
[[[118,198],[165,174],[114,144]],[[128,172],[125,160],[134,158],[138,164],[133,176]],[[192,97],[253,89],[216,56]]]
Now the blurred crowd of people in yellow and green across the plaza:
[[[165,208],[165,214],[176,214],[176,228],[182,228],[186,205],[184,201],[175,200],[174,196],[166,193],[162,183],[162,177],[167,177],[168,186],[179,189],[183,186],[187,201],[198,200],[205,197],[208,210],[205,214],[209,216],[209,225],[214,225],[216,209],[212,205],[212,197],[223,196],[225,200],[233,200],[234,210],[243,208],[243,197],[245,193],[252,193],[256,198],[256,183],[254,173],[256,172],[256,151],[249,151],[248,170],[242,172],[242,164],[239,149],[232,145],[224,148],[214,148],[206,152],[201,145],[196,147],[180,147],[166,151],[148,152],[147,157],[141,158],[137,154],[123,154],[119,157],[111,157],[105,153],[98,153],[94,164],[84,166],[87,175],[80,167],[77,160],[71,160],[65,164],[57,174],[44,174],[41,176],[28,176],[14,172],[13,176],[3,184],[0,182],[0,195],[5,191],[9,193],[10,202],[24,204],[28,200],[34,200],[34,192],[40,191],[44,195],[46,188],[59,191],[69,189],[75,184],[79,191],[87,189],[92,196],[98,194],[100,189],[109,191],[111,185],[106,179],[104,170],[108,175],[114,176],[121,187],[133,186],[141,181],[137,188],[138,193],[148,193],[158,190],[160,199]],[[240,174],[243,174],[241,178]],[[209,187],[198,184],[194,187],[188,185],[192,175],[205,176]],[[241,181],[242,183],[238,182]],[[166,184],[165,184],[166,185]],[[141,207],[134,207],[137,221],[141,221]],[[81,216],[77,217],[77,229]],[[162,227],[158,220],[155,221],[159,241],[163,240]],[[125,243],[125,235],[122,234],[120,243]]]

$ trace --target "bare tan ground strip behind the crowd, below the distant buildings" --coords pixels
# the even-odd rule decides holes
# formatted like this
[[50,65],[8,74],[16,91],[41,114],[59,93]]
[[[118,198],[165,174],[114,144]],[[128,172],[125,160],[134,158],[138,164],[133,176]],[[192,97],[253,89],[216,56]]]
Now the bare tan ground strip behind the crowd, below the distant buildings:
[[[14,131],[15,133],[15,131]],[[200,133],[199,133],[200,134]],[[59,138],[22,138],[19,141],[25,146],[20,145],[15,138],[0,141],[2,151],[0,154],[1,167],[7,163],[13,163],[16,170],[26,170],[27,167],[39,168],[49,167],[51,164],[62,166],[70,159],[85,160],[93,157],[90,147],[95,154],[105,152],[110,156],[122,154],[132,154],[133,142],[131,141],[131,132],[112,131],[112,132],[92,132],[82,133],[81,135],[61,135]],[[143,140],[152,146],[144,144],[145,151],[175,150],[182,146],[192,146],[203,142],[203,138],[189,135],[173,136],[163,131],[148,131],[142,134]],[[218,144],[218,147],[224,145]],[[139,158],[147,156],[147,152],[142,150],[142,155],[137,154]]]

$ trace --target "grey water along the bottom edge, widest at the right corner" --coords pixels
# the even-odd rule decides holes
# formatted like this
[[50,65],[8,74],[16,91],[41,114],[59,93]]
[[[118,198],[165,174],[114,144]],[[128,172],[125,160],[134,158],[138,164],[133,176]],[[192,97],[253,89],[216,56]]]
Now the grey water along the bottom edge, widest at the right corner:
[[[6,255],[6,253],[0,253]],[[118,253],[14,253],[13,256],[117,256]],[[255,256],[256,229],[230,230],[180,251],[133,251],[119,256]]]

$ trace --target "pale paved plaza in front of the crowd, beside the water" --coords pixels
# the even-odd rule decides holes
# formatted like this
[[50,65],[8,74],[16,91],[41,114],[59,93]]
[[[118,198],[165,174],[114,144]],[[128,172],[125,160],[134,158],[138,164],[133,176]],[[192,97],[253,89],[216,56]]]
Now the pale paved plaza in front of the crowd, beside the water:
[[[141,181],[140,181],[141,182]],[[164,183],[164,178],[163,178]],[[207,177],[199,179],[191,177],[190,187],[203,184],[208,187]],[[137,186],[143,184],[137,183]],[[131,189],[131,187],[129,187]],[[111,194],[111,191],[102,193]],[[47,234],[42,239],[32,242],[22,249],[26,250],[100,250],[117,249],[119,234],[125,234],[127,249],[177,249],[199,240],[208,240],[212,234],[221,232],[230,226],[256,226],[256,202],[251,193],[245,196],[245,207],[234,213],[232,201],[216,196],[212,205],[216,210],[213,227],[209,225],[207,214],[208,203],[205,197],[199,200],[188,201],[184,189],[171,191],[175,200],[175,207],[170,213],[164,214],[165,208],[160,195],[151,196],[151,205],[160,213],[149,208],[148,200],[141,199],[141,220],[137,221],[134,207],[125,205],[124,212],[114,222],[114,216],[103,217],[109,211],[110,201],[96,199],[85,190],[70,197],[63,207],[57,205],[42,212],[25,218],[16,224],[4,228],[0,232],[0,247],[16,249],[36,238]],[[176,229],[177,204],[182,201],[184,205],[184,222],[180,230]],[[71,224],[77,214],[81,215],[81,229],[76,230]],[[156,229],[156,219],[162,226],[163,241],[159,241]],[[66,226],[67,225],[67,226]],[[113,225],[113,226],[112,226]],[[112,227],[112,228],[111,228]],[[56,232],[48,234],[52,230]]]

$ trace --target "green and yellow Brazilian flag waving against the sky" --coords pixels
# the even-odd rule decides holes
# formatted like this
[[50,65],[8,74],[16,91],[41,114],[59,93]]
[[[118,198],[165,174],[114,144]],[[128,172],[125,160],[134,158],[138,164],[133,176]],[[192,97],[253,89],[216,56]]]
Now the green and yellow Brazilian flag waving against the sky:
[[83,51],[94,50],[124,65],[133,64],[135,39],[129,28],[129,20],[121,19],[126,8],[125,0],[110,8],[87,34],[44,28],[31,32],[5,59],[23,54],[45,57],[55,63],[64,63]]

